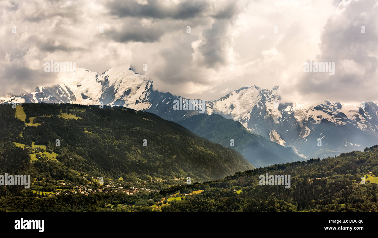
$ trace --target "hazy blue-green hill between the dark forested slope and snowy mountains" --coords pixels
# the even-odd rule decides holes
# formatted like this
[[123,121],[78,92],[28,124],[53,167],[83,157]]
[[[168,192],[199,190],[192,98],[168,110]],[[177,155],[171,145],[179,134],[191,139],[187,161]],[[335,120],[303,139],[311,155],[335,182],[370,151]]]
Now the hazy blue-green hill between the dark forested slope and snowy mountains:
[[[238,151],[256,168],[303,160],[292,148],[285,148],[251,133],[240,122],[218,114],[195,115],[178,123],[198,136]],[[234,140],[234,146],[230,144],[231,139]]]

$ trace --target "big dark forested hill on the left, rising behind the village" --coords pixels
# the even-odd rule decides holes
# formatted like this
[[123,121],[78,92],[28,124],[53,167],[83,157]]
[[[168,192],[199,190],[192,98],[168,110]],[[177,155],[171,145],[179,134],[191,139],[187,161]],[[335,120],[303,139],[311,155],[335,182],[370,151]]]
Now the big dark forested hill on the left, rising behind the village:
[[[204,182],[251,168],[236,151],[152,113],[98,105],[0,105],[0,174],[30,174],[34,192],[69,193],[77,185],[97,185],[98,177],[115,187],[160,190],[184,184],[186,177]],[[15,188],[0,189],[9,194]]]

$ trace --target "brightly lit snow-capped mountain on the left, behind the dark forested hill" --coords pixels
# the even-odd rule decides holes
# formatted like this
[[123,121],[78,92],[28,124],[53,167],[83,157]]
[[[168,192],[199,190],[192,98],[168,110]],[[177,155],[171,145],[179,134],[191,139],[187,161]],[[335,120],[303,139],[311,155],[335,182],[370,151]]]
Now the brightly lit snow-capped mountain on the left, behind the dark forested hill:
[[[173,101],[178,96],[154,91],[152,80],[135,73],[127,65],[114,67],[104,73],[76,68],[75,73],[58,73],[59,84],[38,86],[35,92],[0,97],[0,103],[76,103],[123,106],[150,111],[164,119],[178,121],[197,114],[196,111],[175,110]],[[185,99],[185,98],[183,98]]]

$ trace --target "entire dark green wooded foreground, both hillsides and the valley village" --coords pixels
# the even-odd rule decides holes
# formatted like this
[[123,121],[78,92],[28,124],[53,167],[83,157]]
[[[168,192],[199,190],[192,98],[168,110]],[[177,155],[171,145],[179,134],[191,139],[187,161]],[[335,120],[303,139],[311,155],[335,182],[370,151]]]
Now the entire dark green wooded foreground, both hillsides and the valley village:
[[[237,152],[150,113],[43,106],[0,107],[0,174],[33,177],[30,189],[0,186],[0,211],[378,211],[378,145],[255,169]],[[214,175],[231,174],[224,168],[231,163],[249,170]],[[290,188],[260,185],[266,173],[290,175]],[[218,180],[206,182],[211,176]]]

